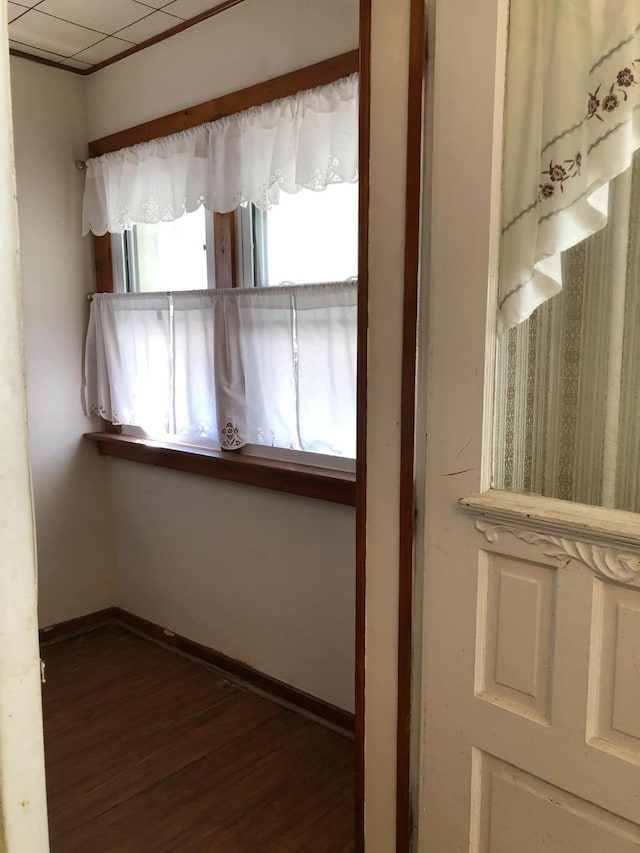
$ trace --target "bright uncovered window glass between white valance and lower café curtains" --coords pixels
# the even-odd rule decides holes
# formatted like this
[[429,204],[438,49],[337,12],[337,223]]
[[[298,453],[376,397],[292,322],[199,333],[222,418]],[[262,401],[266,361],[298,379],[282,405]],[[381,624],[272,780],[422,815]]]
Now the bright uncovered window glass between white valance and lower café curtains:
[[[318,284],[358,275],[358,184],[283,193],[269,210],[234,218],[234,281],[243,287]],[[204,207],[173,222],[112,235],[118,293],[216,287],[214,217]]]

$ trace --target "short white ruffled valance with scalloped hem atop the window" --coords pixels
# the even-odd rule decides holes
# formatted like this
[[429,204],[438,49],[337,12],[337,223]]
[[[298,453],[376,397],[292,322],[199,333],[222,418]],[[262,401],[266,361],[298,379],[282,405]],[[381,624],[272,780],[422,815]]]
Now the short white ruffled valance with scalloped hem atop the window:
[[83,233],[358,178],[358,75],[87,161]]

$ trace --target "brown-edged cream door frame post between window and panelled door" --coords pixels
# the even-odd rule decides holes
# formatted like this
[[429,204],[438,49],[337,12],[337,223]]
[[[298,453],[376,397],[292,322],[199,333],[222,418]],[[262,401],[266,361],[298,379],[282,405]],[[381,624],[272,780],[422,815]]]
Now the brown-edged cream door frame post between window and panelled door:
[[[389,853],[392,849],[408,853],[412,841],[415,398],[425,71],[424,0],[360,0],[358,853],[364,853],[365,844],[367,853]],[[375,132],[383,125],[392,129],[381,133],[378,141],[372,137],[372,129]],[[382,173],[388,172],[392,160],[392,180],[397,186],[385,188],[388,175],[383,177]],[[391,200],[384,197],[385,189],[396,190]],[[392,234],[385,230],[390,223],[384,222],[381,213],[383,206],[389,205],[398,226]],[[379,234],[384,235],[389,249],[392,244],[396,249],[394,264],[389,267],[393,269],[392,296],[396,303],[393,317],[385,315],[384,337],[380,303],[385,282],[378,274],[380,259],[375,248]],[[389,358],[386,369],[382,369],[380,355],[385,347]],[[381,418],[379,397],[385,394],[388,401]],[[373,417],[369,417],[371,412]],[[387,489],[385,477],[392,482],[391,489]],[[380,529],[378,536],[373,534],[374,528],[376,533]],[[377,551],[383,540],[388,550],[380,559]],[[384,695],[389,684],[395,687],[391,702]]]

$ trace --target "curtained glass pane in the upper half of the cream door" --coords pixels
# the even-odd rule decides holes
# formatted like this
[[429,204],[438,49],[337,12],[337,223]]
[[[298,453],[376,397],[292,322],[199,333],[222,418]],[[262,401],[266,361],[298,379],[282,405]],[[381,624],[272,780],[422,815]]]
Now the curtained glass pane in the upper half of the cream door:
[[640,512],[640,39],[610,5],[511,8],[494,484]]

